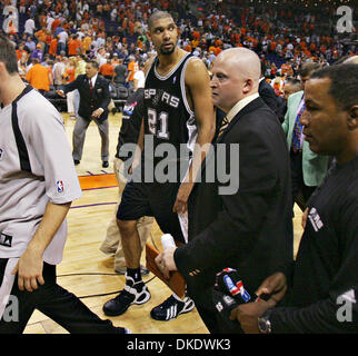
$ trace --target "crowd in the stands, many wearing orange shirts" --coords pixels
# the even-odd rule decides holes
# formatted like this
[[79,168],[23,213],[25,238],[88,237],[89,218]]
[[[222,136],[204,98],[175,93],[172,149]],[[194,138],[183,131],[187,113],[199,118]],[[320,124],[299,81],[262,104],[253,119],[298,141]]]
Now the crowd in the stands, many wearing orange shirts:
[[302,62],[326,65],[356,53],[356,32],[342,37],[335,29],[337,4],[317,1],[7,0],[0,13],[21,77],[43,92],[84,73],[87,58],[99,61],[113,86],[133,89],[133,72],[155,52],[146,36],[148,16],[162,9],[177,20],[179,47],[208,68],[223,49],[248,47],[282,96],[285,80]]

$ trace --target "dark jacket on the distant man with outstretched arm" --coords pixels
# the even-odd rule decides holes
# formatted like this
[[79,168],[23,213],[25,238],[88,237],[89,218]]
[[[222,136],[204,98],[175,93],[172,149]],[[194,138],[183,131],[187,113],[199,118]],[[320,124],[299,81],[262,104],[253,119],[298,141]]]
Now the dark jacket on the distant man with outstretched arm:
[[78,89],[80,92],[80,107],[78,113],[83,119],[91,119],[92,112],[102,108],[105,111],[99,117],[99,120],[105,121],[108,118],[108,105],[111,100],[109,92],[109,82],[101,75],[98,75],[93,92],[90,90],[89,79],[86,75],[80,75],[74,81],[63,87],[64,93]]

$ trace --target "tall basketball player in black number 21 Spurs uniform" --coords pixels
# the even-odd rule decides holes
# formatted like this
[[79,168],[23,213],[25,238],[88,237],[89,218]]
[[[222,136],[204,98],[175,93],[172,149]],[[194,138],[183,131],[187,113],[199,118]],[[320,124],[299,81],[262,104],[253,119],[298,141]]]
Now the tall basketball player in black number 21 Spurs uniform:
[[[118,227],[122,237],[127,274],[125,289],[103,306],[106,315],[123,314],[132,304],[143,304],[150,299],[150,293],[140,275],[141,246],[137,231],[137,220],[142,216],[155,216],[160,229],[171,234],[177,241],[185,243],[178,214],[186,214],[189,195],[193,187],[200,164],[206,156],[202,149],[212,141],[215,135],[215,115],[211,103],[210,79],[203,62],[177,46],[178,29],[172,17],[165,11],[156,11],[148,21],[148,37],[152,41],[157,56],[146,63],[145,117],[138,140],[132,170],[140,167],[141,182],[127,184],[118,209]],[[158,177],[148,180],[143,171],[158,165],[151,156],[152,149],[161,144],[170,144],[177,156],[171,159],[168,169],[177,169],[176,182],[160,184]],[[197,144],[197,145],[193,145]],[[187,159],[187,175],[180,176],[180,145],[192,150],[192,159]],[[162,146],[163,147],[163,146]],[[151,166],[150,166],[151,165]],[[139,167],[138,167],[139,166]],[[172,295],[160,306],[151,310],[158,320],[170,320],[193,308],[188,297],[180,300]]]

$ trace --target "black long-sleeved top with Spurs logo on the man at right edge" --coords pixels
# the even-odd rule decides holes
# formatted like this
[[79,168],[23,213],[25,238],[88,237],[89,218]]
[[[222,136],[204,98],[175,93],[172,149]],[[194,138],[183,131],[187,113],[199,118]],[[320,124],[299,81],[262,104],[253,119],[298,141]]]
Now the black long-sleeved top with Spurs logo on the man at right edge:
[[[274,309],[272,329],[357,333],[357,291],[358,157],[332,167],[309,200],[307,225],[287,299],[289,308]],[[339,319],[338,309],[345,300],[351,303],[351,322]]]

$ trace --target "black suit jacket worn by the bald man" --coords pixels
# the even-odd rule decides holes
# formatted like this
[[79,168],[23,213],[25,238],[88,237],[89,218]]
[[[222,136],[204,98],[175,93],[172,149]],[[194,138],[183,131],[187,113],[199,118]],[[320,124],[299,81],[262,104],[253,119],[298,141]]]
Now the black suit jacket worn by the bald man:
[[[222,268],[237,268],[255,291],[277,265],[294,257],[289,155],[277,117],[257,98],[231,120],[217,151],[219,144],[226,144],[226,157],[219,159],[227,170],[229,144],[239,147],[239,160],[231,162],[231,170],[239,166],[239,189],[218,195],[225,186],[218,179],[197,184],[189,201],[189,243],[175,253],[199,313],[200,305],[210,303],[210,287]],[[207,160],[202,176],[213,162]]]

